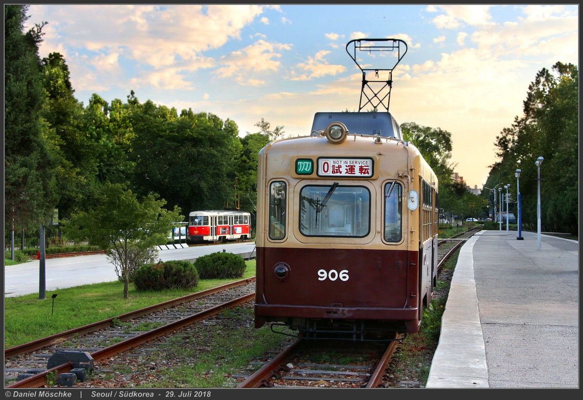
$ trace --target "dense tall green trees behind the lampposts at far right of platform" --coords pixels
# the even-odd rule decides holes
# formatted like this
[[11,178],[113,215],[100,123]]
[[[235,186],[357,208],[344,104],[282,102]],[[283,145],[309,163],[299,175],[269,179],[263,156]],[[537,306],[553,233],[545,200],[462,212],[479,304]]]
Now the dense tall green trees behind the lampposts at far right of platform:
[[[516,117],[495,143],[500,161],[491,166],[486,187],[511,184],[511,208],[522,199],[522,223],[535,229],[538,203],[538,157],[543,231],[577,234],[579,227],[579,73],[577,66],[557,62],[543,68],[529,85],[524,115]],[[518,177],[515,171],[521,170]],[[499,186],[499,187],[500,187]],[[485,190],[488,198],[490,191]]]

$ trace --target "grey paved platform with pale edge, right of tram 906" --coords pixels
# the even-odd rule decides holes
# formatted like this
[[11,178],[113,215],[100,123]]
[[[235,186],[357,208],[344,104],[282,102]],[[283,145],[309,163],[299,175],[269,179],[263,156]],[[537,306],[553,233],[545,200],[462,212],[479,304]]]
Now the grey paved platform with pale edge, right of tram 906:
[[577,241],[481,231],[463,245],[427,388],[578,388]]

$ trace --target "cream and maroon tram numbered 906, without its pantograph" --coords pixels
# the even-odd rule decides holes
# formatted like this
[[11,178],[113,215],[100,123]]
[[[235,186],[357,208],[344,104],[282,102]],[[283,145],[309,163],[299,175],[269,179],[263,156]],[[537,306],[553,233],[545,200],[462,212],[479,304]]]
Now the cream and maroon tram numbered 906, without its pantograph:
[[437,177],[388,112],[316,113],[259,152],[255,327],[417,332],[437,283]]

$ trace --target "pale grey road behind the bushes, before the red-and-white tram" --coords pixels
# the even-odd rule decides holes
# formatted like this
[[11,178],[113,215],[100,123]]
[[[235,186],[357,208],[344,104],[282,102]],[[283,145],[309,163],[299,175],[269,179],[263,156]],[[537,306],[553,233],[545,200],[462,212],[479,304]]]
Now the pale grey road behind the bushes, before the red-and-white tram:
[[[160,250],[162,261],[173,259],[194,259],[213,252],[232,252],[248,258],[255,255],[255,243],[229,243],[172,250]],[[24,294],[40,293],[40,260],[4,267],[4,296],[17,297]],[[87,285],[90,283],[113,282],[117,280],[115,267],[105,254],[79,255],[76,257],[48,258],[44,260],[45,298],[50,298],[59,289]]]

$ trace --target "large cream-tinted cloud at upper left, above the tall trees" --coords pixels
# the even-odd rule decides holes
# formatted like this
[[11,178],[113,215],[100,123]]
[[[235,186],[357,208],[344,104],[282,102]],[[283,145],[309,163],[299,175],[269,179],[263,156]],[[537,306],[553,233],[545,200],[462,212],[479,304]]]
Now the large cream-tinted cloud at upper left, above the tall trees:
[[[214,61],[203,57],[202,52],[219,48],[231,38],[240,38],[241,30],[261,15],[264,8],[259,5],[32,5],[30,12],[43,15],[49,21],[44,29],[41,57],[54,51],[65,57],[83,51],[90,65],[96,68],[95,79],[100,75],[107,79],[111,71],[122,69],[111,62],[106,62],[107,68],[103,69],[98,64],[101,61],[117,60],[120,64],[134,61],[132,68],[137,68],[138,75],[146,71],[142,78],[136,78],[139,82],[156,78],[154,86],[172,81],[171,86],[175,87],[184,82],[172,79],[177,78],[180,68],[193,71],[212,67]],[[158,72],[147,72],[149,68],[142,66]],[[164,71],[167,68],[170,69]]]

